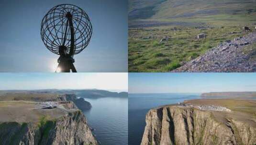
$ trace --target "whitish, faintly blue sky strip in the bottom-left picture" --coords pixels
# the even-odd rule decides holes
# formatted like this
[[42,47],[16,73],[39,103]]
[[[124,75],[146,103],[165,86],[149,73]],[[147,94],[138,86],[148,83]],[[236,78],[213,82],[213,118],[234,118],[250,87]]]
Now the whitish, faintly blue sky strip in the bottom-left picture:
[[101,89],[128,91],[128,73],[0,73],[0,90]]

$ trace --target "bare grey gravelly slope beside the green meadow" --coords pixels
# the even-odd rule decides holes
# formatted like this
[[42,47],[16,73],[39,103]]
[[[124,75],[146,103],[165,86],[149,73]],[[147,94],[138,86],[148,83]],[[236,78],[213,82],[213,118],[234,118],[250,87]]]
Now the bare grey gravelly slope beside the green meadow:
[[225,41],[173,72],[256,72],[256,32]]

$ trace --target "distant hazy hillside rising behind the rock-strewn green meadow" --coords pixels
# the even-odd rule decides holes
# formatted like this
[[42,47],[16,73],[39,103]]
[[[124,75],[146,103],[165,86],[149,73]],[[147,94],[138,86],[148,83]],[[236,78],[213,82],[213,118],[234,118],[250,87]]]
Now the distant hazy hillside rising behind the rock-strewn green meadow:
[[129,0],[129,20],[256,22],[256,0]]

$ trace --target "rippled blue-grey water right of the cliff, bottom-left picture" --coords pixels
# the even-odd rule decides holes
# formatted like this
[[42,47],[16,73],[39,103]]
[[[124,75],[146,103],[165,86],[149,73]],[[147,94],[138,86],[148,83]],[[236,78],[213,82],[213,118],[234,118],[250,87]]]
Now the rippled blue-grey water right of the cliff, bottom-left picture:
[[128,145],[128,98],[84,99],[92,105],[84,114],[100,145]]

